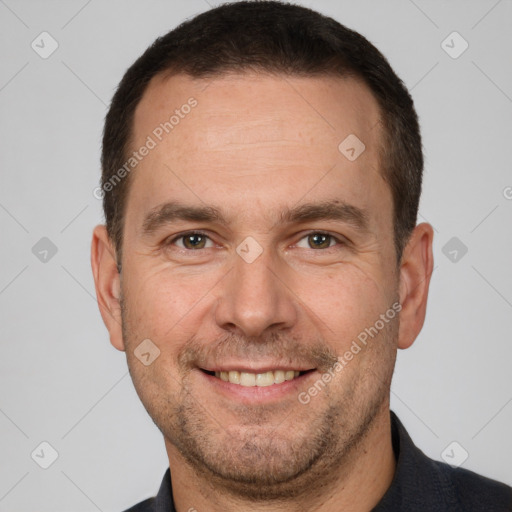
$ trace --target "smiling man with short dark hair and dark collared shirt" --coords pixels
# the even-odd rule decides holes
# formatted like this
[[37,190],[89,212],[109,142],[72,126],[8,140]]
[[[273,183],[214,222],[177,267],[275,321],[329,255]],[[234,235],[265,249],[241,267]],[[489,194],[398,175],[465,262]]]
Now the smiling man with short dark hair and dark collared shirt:
[[130,510],[512,510],[389,409],[433,230],[412,100],[366,39],[279,2],[196,16],[125,74],[102,165],[98,303],[169,458]]

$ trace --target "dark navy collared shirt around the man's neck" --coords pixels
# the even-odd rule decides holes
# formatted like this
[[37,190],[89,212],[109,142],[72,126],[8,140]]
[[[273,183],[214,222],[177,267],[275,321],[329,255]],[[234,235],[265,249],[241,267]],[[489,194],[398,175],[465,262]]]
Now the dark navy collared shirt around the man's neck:
[[[512,511],[511,487],[428,458],[414,445],[398,416],[393,411],[390,414],[397,460],[395,476],[371,512]],[[165,472],[156,497],[142,501],[126,512],[176,512],[170,470]]]

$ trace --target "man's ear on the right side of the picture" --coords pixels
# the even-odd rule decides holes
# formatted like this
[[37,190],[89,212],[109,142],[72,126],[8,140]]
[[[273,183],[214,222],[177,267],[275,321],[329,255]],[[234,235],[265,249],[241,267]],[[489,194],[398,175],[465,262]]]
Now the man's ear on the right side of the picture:
[[418,336],[427,311],[428,289],[434,265],[434,231],[426,222],[418,224],[404,248],[400,263],[400,330],[398,348],[409,348]]

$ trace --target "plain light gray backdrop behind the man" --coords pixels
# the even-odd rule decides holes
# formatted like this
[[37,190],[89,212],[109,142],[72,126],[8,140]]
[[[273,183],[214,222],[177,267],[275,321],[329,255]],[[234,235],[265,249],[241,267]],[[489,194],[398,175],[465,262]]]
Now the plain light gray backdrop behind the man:
[[[512,2],[302,3],[370,39],[421,119],[419,220],[435,228],[435,271],[425,328],[398,354],[392,409],[430,457],[456,441],[454,460],[464,449],[463,467],[512,485]],[[119,511],[158,489],[163,439],[94,296],[93,189],[122,74],[209,5],[0,0],[2,511]],[[59,45],[47,59],[31,47],[43,31]],[[453,31],[469,44],[458,58],[445,51],[462,48],[457,36],[442,46]],[[55,255],[40,252],[47,241],[33,251],[43,237]],[[43,441],[59,454],[48,469],[35,462],[47,448],[31,458]]]

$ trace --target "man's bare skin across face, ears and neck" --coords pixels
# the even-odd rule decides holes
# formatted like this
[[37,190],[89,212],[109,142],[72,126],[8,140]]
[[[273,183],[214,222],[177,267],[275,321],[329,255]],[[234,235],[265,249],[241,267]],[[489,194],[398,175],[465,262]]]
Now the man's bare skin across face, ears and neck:
[[[395,471],[389,390],[397,349],[424,322],[432,228],[419,224],[397,263],[379,109],[359,81],[155,77],[136,110],[133,148],[191,96],[197,106],[130,175],[121,275],[102,225],[91,255],[110,341],[126,351],[164,434],[176,509],[370,510]],[[338,150],[349,134],[366,146],[355,161]],[[171,200],[215,206],[226,223],[177,220],[144,233],[148,212]],[[278,217],[330,200],[364,210],[367,229]],[[177,239],[190,230],[206,238]],[[251,263],[236,251],[249,236],[263,251]],[[397,301],[399,321],[300,403]],[[145,366],[134,351],[148,338],[160,355]],[[200,368],[310,371],[242,388]]]

